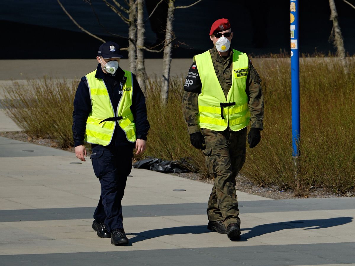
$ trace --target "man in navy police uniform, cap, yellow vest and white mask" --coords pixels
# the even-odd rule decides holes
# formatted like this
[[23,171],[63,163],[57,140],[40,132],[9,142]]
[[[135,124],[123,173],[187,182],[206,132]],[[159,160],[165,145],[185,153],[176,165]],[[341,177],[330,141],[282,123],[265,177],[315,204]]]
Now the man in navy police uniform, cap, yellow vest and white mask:
[[81,78],[74,99],[73,137],[76,157],[85,161],[84,142],[91,143],[91,161],[101,184],[92,228],[111,244],[126,245],[121,200],[136,154],[146,149],[149,130],[142,90],[130,71],[119,67],[120,46],[102,44],[97,69]]

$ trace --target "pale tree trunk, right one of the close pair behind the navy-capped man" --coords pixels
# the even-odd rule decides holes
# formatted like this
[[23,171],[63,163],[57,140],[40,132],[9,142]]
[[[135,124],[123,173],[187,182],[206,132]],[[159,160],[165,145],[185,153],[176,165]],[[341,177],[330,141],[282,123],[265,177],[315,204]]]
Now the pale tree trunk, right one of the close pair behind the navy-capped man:
[[146,78],[147,72],[144,66],[144,14],[143,14],[144,0],[137,0],[137,81],[141,86],[143,93],[146,93]]

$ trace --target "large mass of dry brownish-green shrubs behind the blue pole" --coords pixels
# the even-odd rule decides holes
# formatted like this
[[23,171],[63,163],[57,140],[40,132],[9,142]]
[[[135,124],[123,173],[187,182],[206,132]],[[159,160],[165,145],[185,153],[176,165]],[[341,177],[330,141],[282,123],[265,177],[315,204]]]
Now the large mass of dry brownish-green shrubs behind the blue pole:
[[301,59],[297,171],[291,157],[290,61],[259,62],[255,65],[263,79],[265,130],[261,143],[248,149],[242,171],[260,185],[277,184],[295,195],[306,195],[311,185],[335,193],[354,189],[354,58],[349,60],[350,74],[344,74],[336,58]]

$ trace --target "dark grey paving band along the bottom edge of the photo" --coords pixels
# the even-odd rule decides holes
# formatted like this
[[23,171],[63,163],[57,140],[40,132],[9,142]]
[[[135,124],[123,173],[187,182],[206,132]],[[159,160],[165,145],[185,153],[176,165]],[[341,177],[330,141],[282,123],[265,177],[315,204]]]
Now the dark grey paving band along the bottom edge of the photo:
[[[354,265],[352,253],[339,256],[329,255],[332,247],[336,250],[349,250],[353,245],[308,244],[305,249],[322,249],[328,255],[324,257],[300,251],[297,245],[279,246],[247,246],[224,248],[196,248],[174,250],[139,250],[139,251],[107,251],[86,253],[29,254],[1,256],[4,265],[15,265],[18,262],[37,263],[37,265]],[[330,254],[333,254],[332,252]],[[345,255],[345,256],[344,256]],[[206,263],[207,262],[207,263]],[[307,264],[308,263],[308,264]],[[344,264],[343,264],[344,263]],[[27,264],[26,264],[27,265]]]

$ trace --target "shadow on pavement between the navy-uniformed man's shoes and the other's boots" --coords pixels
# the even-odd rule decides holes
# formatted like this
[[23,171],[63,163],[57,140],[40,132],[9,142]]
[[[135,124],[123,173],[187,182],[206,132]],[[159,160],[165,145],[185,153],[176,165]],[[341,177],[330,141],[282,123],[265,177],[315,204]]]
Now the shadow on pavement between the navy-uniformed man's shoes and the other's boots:
[[163,235],[172,234],[203,234],[209,233],[206,225],[194,225],[194,226],[180,226],[180,227],[169,227],[162,229],[153,229],[148,231],[143,231],[140,233],[127,233],[127,235],[136,235],[130,238],[130,243],[140,242],[146,239],[161,237]]

